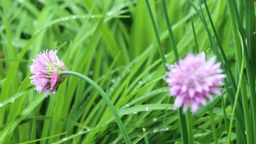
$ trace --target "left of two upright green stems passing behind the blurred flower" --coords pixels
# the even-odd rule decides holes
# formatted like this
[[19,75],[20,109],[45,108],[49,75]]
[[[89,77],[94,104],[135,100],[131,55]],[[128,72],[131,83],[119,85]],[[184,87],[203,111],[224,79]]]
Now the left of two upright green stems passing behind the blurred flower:
[[[168,71],[168,69],[165,67],[166,59],[165,59],[165,56],[164,56],[164,52],[162,51],[161,40],[160,40],[160,37],[159,37],[159,34],[158,34],[158,29],[156,28],[154,16],[152,14],[152,10],[150,8],[148,0],[145,0],[145,1],[146,1],[146,5],[147,5],[147,8],[148,8],[150,21],[151,21],[153,29],[154,29],[155,38],[156,38],[156,41],[158,43],[158,50],[159,50],[160,57],[162,59],[162,64],[164,65],[165,71]],[[177,54],[178,54],[178,52],[177,52]],[[176,59],[178,60],[178,55],[177,55]],[[178,114],[179,114],[179,126],[181,128],[182,142],[183,143],[188,143],[188,132],[187,132],[188,130],[187,130],[186,119],[185,119],[185,116],[182,113],[181,108],[178,109]]]

